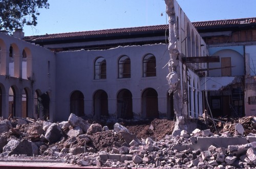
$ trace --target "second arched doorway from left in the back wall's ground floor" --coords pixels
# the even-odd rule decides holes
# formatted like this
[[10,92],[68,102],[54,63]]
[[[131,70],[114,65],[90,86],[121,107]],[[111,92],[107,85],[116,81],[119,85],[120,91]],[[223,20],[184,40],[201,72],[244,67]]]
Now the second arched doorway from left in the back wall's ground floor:
[[109,116],[108,95],[103,90],[98,90],[93,97],[94,116]]

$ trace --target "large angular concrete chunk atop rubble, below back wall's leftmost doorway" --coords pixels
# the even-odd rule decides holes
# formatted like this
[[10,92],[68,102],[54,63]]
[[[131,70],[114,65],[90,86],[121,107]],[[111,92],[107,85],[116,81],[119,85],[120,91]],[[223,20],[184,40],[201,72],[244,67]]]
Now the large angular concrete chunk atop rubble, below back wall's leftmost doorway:
[[74,114],[70,114],[68,121],[72,127],[80,127],[84,133],[87,133],[87,130],[91,125],[90,123],[88,123],[88,121],[83,120],[82,118],[77,117]]

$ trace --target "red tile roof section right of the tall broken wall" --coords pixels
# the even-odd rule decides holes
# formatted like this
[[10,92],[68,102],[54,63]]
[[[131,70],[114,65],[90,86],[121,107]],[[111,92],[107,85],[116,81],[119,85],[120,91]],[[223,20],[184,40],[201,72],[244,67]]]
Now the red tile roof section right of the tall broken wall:
[[224,26],[224,25],[238,25],[238,24],[248,24],[248,23],[256,23],[256,18],[201,21],[201,22],[193,22],[193,25],[197,28],[197,27],[205,27],[205,26]]

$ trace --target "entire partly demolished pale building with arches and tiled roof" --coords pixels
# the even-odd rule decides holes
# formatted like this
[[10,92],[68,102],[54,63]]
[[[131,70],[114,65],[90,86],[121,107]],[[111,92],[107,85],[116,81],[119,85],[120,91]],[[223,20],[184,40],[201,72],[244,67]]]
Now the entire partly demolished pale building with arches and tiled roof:
[[[218,29],[224,27],[230,29],[231,23],[227,22],[223,27],[218,24],[218,29],[214,26],[206,29],[207,24],[191,23],[176,1],[174,11],[180,73],[176,79],[180,94],[176,98],[177,90],[170,90],[172,86],[166,82],[168,67],[169,70],[173,68],[168,65],[168,25],[30,37],[24,37],[18,29],[13,36],[0,34],[1,116],[37,119],[42,118],[44,110],[52,121],[66,120],[71,112],[95,119],[153,119],[174,118],[178,112],[189,119],[198,118],[205,110],[212,109],[214,116],[230,116],[231,109],[242,109],[243,116],[253,115],[251,103],[255,90],[249,82],[246,88],[245,85],[241,87],[241,82],[245,84],[249,80],[252,83],[254,80],[253,71],[248,74],[250,69],[245,63],[253,60],[254,39],[245,47],[248,52],[243,52],[244,47],[237,42],[237,47],[233,43],[229,45],[230,50],[237,49],[229,53],[232,62],[227,66],[225,58],[228,57],[209,44],[206,39],[209,36],[203,30],[205,27],[210,36],[222,32],[227,35],[230,30],[214,31],[219,32]],[[238,27],[241,25],[252,28],[254,22]],[[236,64],[244,64],[235,65],[233,60]],[[250,63],[252,69],[253,62]],[[231,76],[219,72],[228,73],[227,69],[232,70]],[[242,70],[247,70],[247,74]],[[49,101],[44,109],[40,106],[40,98]],[[178,99],[182,111],[174,102]],[[210,106],[207,106],[207,100]],[[236,106],[228,108],[226,103]],[[245,113],[249,111],[250,114]]]

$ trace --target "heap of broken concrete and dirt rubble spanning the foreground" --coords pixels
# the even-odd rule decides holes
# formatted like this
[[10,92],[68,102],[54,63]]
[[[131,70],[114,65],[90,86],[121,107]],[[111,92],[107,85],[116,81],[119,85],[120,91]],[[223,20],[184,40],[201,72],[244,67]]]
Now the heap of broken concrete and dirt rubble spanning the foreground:
[[[158,139],[160,134],[138,138],[127,129],[129,127],[119,123],[110,130],[108,126],[90,124],[74,114],[61,123],[2,119],[0,159],[61,160],[97,167],[256,167],[256,135],[244,129],[249,125],[254,131],[254,120],[255,117],[247,117],[230,123],[233,129],[223,127],[218,134],[210,129],[195,129],[191,133],[182,130],[175,137],[166,134]],[[147,130],[154,132],[156,128],[157,121],[154,121]],[[230,137],[231,133],[234,136]]]

